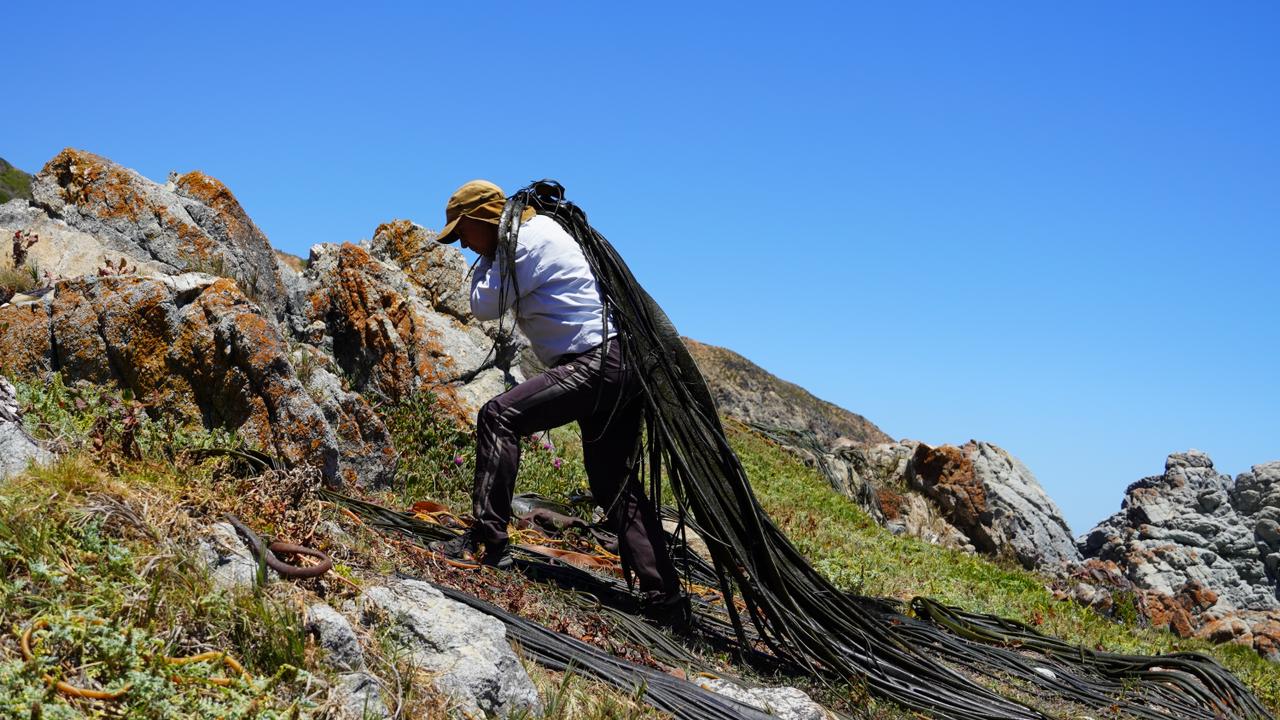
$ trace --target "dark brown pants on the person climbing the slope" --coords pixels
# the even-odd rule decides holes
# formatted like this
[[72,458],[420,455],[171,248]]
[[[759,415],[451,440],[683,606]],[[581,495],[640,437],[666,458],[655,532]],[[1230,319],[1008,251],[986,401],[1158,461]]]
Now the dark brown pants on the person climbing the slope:
[[603,369],[600,346],[520,383],[480,409],[471,496],[475,537],[480,542],[507,539],[520,438],[577,420],[591,495],[609,511],[609,529],[618,534],[622,557],[640,580],[640,591],[675,593],[678,579],[667,557],[662,523],[645,500],[636,473],[643,398],[625,366],[622,343],[611,340],[605,345]]

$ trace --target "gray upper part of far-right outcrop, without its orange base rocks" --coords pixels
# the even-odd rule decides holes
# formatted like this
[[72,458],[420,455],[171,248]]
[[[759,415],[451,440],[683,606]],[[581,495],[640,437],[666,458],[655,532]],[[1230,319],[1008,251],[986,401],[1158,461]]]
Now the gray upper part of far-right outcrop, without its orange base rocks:
[[1276,600],[1280,462],[1233,482],[1197,450],[1129,486],[1121,510],[1080,539],[1085,557],[1114,561],[1139,588],[1174,594],[1189,582],[1217,593],[1216,611],[1267,611]]

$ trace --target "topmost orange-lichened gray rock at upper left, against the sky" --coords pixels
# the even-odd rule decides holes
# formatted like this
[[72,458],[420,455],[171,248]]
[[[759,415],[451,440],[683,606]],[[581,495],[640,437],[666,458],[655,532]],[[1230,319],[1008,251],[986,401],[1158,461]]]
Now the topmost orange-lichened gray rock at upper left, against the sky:
[[[155,183],[134,170],[83,150],[65,149],[32,183],[24,228],[58,233],[56,222],[93,238],[99,247],[145,265],[142,272],[206,272],[237,281],[275,316],[285,311],[285,291],[266,236],[219,181],[200,172]],[[18,222],[13,218],[5,222]],[[68,236],[72,241],[83,236]],[[83,263],[68,263],[68,274]]]

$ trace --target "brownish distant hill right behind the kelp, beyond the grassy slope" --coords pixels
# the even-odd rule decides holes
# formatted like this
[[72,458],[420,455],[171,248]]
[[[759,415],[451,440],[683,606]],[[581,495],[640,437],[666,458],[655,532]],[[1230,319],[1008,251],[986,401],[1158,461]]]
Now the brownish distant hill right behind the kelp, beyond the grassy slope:
[[732,350],[684,338],[701,369],[721,413],[748,423],[812,430],[831,446],[837,438],[859,445],[893,442],[884,430],[856,413],[814,397]]

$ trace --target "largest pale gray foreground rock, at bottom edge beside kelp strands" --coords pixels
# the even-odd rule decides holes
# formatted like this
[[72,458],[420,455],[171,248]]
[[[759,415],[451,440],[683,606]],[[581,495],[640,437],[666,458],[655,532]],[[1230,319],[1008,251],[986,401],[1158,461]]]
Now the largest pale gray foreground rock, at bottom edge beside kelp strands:
[[507,642],[507,629],[420,580],[365,591],[361,621],[385,625],[412,662],[433,675],[462,716],[541,714],[532,680]]

